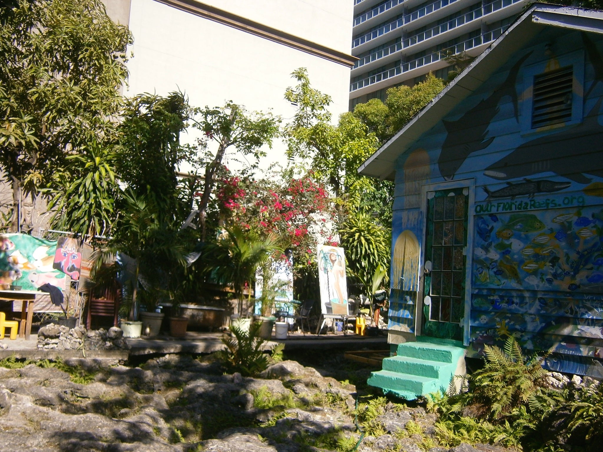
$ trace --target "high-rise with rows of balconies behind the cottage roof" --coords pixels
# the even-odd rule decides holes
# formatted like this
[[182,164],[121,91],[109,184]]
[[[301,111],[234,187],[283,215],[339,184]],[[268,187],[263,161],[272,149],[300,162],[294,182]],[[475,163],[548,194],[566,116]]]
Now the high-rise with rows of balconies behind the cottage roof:
[[350,0],[354,4],[350,110],[385,100],[388,88],[412,86],[430,71],[446,78],[447,56],[481,54],[529,0]]

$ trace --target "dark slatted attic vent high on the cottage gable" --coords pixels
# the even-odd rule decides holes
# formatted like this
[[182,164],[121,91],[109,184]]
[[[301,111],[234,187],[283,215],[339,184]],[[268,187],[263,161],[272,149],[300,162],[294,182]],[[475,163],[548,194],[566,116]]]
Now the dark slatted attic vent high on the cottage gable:
[[532,128],[572,119],[573,66],[535,75],[532,94]]

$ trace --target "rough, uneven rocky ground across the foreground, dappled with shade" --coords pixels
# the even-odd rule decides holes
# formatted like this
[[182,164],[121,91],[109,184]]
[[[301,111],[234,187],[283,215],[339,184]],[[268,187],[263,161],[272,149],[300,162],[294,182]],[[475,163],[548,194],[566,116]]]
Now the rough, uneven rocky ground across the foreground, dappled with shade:
[[[277,363],[261,378],[224,375],[212,359],[177,355],[89,372],[5,365],[13,367],[0,367],[5,452],[351,451],[360,438],[355,386],[295,361]],[[356,410],[366,430],[361,452],[502,451],[438,448],[434,415],[372,400]]]

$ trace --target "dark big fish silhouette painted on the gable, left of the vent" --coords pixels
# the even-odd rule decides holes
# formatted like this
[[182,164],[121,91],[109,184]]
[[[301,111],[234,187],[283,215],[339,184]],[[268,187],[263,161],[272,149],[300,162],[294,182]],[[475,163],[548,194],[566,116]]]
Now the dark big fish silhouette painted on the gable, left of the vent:
[[[528,59],[532,52],[528,52],[519,58],[511,67],[507,80],[504,81],[494,92],[471,108],[456,121],[442,120],[447,134],[442,145],[440,157],[438,157],[438,168],[440,174],[446,180],[452,180],[456,171],[470,154],[487,148],[494,141],[494,137],[486,139],[488,127],[494,116],[499,112],[498,104],[504,96],[511,96],[515,118],[519,121],[517,109],[517,92],[515,84],[517,74],[523,62]],[[467,128],[467,124],[473,127]]]

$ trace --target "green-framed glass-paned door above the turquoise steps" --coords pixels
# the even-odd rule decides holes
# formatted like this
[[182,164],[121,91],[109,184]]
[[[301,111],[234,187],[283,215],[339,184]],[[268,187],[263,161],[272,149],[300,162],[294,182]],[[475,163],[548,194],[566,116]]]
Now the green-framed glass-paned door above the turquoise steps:
[[422,334],[463,340],[469,189],[428,192]]

